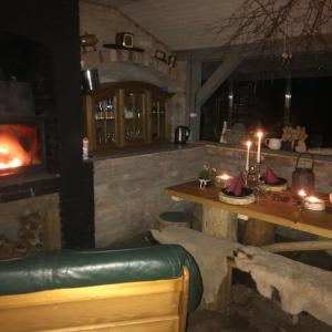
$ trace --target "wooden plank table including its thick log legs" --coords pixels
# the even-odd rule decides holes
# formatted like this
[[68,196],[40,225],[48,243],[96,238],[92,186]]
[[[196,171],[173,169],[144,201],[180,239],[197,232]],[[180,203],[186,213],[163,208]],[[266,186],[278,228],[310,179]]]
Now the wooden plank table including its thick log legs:
[[[258,201],[247,206],[230,205],[220,201],[218,198],[220,188],[210,186],[200,189],[198,180],[172,186],[166,188],[165,191],[173,198],[201,204],[201,230],[211,236],[237,240],[238,215],[243,215],[249,217],[245,231],[245,236],[247,232],[248,238],[247,241],[243,241],[245,245],[262,246],[264,250],[271,252],[292,251],[294,248],[293,243],[295,243],[297,250],[318,250],[318,248],[319,250],[332,249],[331,240],[269,245],[271,243],[272,237],[274,237],[274,225],[332,239],[332,206],[328,203],[328,195],[320,196],[320,198],[326,200],[325,211],[308,211],[300,209],[299,206],[294,204],[290,191],[264,195],[259,197]],[[282,201],[277,200],[277,197],[283,198]],[[257,229],[259,231],[257,231]],[[251,237],[252,232],[256,232],[256,236]],[[303,245],[304,242],[305,245]],[[290,248],[289,245],[293,248]],[[276,248],[276,246],[279,247]],[[212,303],[211,308],[214,308],[214,310],[222,311],[230,303],[231,279],[232,269],[229,268],[228,274],[218,290],[218,294],[220,295],[217,298],[218,300]]]

